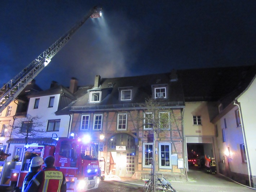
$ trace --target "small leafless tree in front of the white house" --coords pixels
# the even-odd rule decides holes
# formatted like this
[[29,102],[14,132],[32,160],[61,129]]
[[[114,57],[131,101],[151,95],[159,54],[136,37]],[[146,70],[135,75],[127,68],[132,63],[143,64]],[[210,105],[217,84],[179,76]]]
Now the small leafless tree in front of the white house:
[[45,129],[39,116],[27,116],[26,119],[18,119],[12,125],[12,135],[18,138],[25,138],[26,144],[28,138],[44,137]]

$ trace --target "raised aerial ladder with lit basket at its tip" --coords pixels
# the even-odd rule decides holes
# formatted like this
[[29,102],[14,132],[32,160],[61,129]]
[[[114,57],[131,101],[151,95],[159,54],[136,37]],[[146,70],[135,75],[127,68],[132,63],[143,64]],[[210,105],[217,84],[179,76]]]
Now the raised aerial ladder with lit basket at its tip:
[[0,89],[0,113],[21,93],[21,91],[43,70],[51,59],[56,55],[61,48],[70,40],[72,35],[79,30],[81,26],[87,21],[89,17],[101,17],[101,8],[94,6],[89,10],[84,18],[76,23],[65,35],[55,41],[49,48],[44,50],[34,61],[28,64],[21,72],[13,79],[9,80]]

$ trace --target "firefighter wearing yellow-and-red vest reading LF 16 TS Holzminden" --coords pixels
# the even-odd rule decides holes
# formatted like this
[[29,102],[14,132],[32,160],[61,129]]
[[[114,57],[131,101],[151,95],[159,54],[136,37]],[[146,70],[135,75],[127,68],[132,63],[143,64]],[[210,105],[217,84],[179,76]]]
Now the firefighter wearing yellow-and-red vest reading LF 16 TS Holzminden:
[[65,175],[54,167],[54,157],[48,156],[44,160],[45,168],[39,171],[28,183],[24,192],[66,192]]

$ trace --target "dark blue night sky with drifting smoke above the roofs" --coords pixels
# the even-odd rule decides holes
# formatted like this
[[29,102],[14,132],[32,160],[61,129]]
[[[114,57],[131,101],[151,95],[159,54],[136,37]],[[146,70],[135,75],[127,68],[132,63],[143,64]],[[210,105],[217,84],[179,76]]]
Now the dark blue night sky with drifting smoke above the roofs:
[[4,0],[0,4],[3,85],[101,5],[36,77],[69,86],[172,69],[256,63],[256,0]]

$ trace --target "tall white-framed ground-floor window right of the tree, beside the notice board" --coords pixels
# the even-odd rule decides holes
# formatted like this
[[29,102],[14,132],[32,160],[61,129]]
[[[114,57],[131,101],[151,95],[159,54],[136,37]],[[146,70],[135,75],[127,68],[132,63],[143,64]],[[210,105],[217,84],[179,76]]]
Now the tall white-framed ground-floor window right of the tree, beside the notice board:
[[159,168],[171,169],[171,144],[159,143]]

